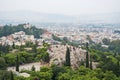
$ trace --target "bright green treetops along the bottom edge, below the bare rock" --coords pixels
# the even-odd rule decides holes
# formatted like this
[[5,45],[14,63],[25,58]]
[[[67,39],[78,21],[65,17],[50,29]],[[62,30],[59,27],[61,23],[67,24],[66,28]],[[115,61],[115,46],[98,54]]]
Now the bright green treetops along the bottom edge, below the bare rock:
[[[40,71],[25,71],[31,77],[24,78],[16,76],[15,80],[119,80],[112,71],[103,72],[100,68],[91,70],[84,66],[76,70],[70,67],[41,67]],[[21,79],[22,78],[22,79]]]

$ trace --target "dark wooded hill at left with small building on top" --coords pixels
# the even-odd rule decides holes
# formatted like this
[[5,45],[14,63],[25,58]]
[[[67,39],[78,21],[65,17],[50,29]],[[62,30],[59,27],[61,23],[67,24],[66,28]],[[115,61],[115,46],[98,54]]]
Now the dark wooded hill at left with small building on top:
[[35,38],[40,38],[40,35],[45,32],[43,29],[38,29],[35,26],[31,26],[30,28],[25,28],[25,24],[19,24],[17,26],[5,25],[0,28],[0,37],[8,36],[15,32],[24,31],[27,35],[34,35]]

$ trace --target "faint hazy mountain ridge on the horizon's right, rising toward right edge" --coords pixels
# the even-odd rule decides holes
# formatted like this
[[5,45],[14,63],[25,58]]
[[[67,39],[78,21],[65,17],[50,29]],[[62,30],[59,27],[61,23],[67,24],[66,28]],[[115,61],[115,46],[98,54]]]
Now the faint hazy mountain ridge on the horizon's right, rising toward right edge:
[[77,17],[79,22],[87,23],[120,23],[120,12],[82,15]]

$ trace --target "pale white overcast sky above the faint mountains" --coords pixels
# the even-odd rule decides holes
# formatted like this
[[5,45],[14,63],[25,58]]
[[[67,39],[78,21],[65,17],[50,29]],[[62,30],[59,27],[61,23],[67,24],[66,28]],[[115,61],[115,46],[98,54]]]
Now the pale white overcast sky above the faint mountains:
[[120,0],[0,0],[0,11],[18,10],[67,15],[120,12]]

